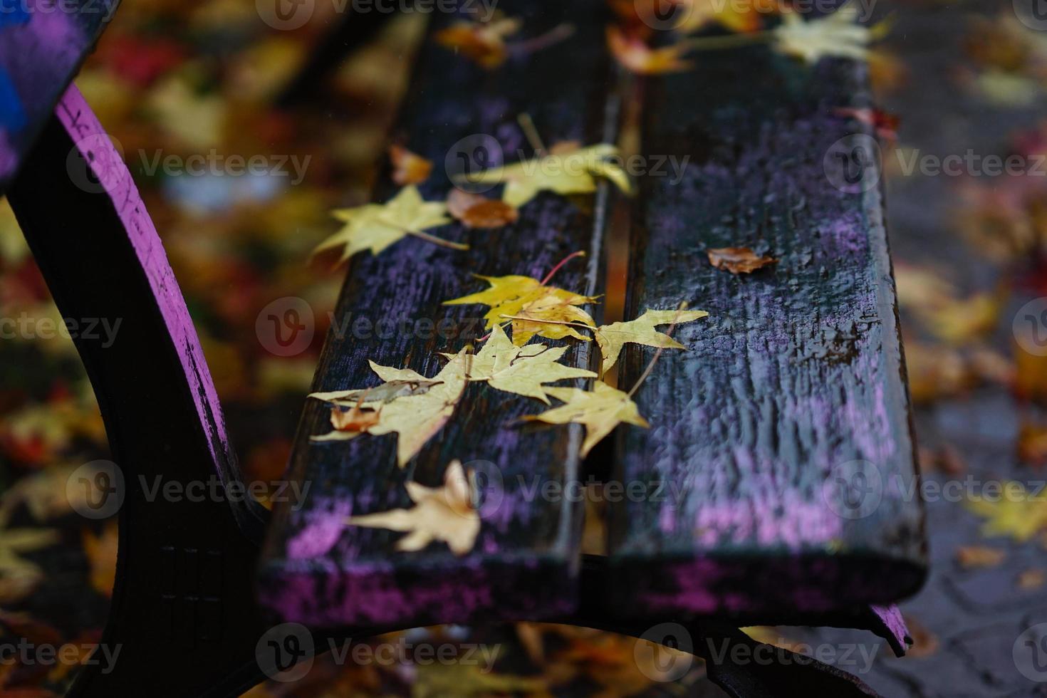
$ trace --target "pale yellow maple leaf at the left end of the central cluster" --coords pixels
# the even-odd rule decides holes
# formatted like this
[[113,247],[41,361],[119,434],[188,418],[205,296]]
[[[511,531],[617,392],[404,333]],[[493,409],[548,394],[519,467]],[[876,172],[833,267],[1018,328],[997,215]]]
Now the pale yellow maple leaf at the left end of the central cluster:
[[[377,402],[384,402],[378,414],[377,423],[369,426],[366,433],[380,436],[396,432],[397,441],[397,465],[401,468],[407,465],[415,455],[422,450],[425,443],[437,434],[447,420],[454,413],[454,407],[462,399],[467,383],[466,367],[471,359],[467,352],[463,350],[455,354],[443,369],[433,378],[427,379],[421,374],[417,374],[409,368],[387,368],[372,364],[372,368],[383,380],[392,377],[392,380],[406,380],[410,382],[424,381],[428,383],[424,390],[413,391],[409,395],[395,397],[391,400],[369,401],[364,399],[362,405],[372,405]],[[381,369],[381,370],[379,370]],[[313,393],[311,398],[328,400],[330,396],[337,393]],[[325,397],[327,396],[327,397]],[[337,400],[337,398],[335,398]],[[359,431],[332,431],[330,433],[313,436],[313,442],[334,442],[348,441],[359,436]]]

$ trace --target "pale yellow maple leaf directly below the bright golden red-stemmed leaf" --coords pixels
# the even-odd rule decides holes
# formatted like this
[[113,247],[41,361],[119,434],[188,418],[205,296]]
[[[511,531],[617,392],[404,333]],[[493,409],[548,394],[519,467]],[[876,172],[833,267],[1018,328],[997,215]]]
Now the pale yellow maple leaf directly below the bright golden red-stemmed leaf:
[[536,398],[549,404],[544,383],[567,378],[596,378],[592,370],[557,363],[569,348],[545,344],[516,346],[506,336],[502,325],[495,324],[490,339],[472,359],[469,380],[487,381],[492,388]]

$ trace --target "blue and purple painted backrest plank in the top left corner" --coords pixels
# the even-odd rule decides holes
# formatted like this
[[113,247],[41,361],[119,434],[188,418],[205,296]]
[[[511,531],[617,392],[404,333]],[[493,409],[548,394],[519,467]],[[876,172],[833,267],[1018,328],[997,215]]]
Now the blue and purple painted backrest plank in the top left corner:
[[118,0],[21,0],[0,13],[0,194]]

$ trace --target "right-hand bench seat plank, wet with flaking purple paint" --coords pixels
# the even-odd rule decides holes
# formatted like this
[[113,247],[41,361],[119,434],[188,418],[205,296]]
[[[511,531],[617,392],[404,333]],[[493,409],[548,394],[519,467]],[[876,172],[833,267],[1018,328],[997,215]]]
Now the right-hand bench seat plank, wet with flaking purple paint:
[[[615,477],[664,496],[610,509],[611,607],[893,602],[926,559],[883,200],[825,166],[836,141],[868,136],[838,111],[870,106],[865,69],[767,47],[697,65],[649,85],[644,152],[690,164],[642,183],[626,316],[687,300],[710,317],[676,329],[688,351],[638,392],[651,428],[621,435]],[[778,263],[734,275],[707,260],[723,247]],[[652,354],[627,351],[626,388]]]

